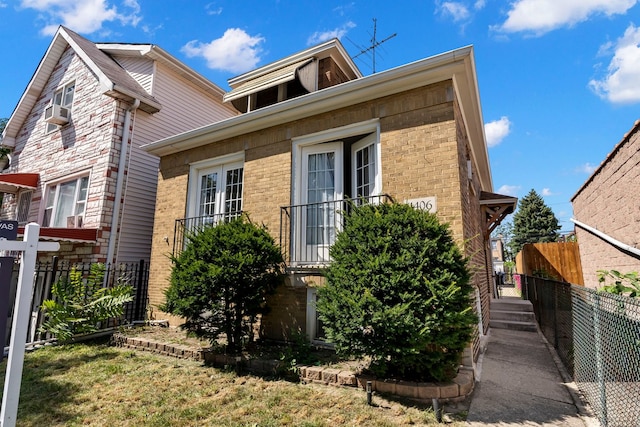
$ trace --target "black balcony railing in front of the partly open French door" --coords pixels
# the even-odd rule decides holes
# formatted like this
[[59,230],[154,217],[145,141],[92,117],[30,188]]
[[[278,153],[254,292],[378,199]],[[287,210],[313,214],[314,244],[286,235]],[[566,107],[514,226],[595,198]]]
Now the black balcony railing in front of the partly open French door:
[[291,269],[317,269],[329,261],[329,248],[353,206],[392,201],[382,194],[280,208],[280,246]]

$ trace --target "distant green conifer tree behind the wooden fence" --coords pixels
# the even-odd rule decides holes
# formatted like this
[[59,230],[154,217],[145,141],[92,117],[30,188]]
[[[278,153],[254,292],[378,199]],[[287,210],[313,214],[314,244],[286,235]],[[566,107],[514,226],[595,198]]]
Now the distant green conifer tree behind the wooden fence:
[[556,242],[560,225],[550,207],[535,190],[520,200],[513,216],[511,249],[517,254],[526,243]]

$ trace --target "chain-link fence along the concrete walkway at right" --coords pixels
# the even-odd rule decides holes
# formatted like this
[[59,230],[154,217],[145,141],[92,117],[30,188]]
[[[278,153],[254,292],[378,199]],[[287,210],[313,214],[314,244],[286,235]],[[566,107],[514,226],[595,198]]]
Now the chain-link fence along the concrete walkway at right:
[[521,285],[602,425],[640,425],[640,298],[527,276]]

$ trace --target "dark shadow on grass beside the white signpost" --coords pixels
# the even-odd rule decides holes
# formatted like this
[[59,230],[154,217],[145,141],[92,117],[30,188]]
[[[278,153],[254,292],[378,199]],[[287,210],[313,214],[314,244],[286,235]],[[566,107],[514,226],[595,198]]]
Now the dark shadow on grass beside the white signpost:
[[[75,349],[74,349],[75,347]],[[72,349],[72,351],[69,351]],[[79,350],[79,351],[74,351]],[[22,425],[67,424],[84,414],[63,408],[80,403],[82,382],[64,379],[73,368],[116,358],[119,353],[103,340],[67,344],[28,352],[25,355],[20,387],[18,420]],[[0,364],[0,381],[4,384],[7,359]],[[0,396],[3,394],[0,389]]]

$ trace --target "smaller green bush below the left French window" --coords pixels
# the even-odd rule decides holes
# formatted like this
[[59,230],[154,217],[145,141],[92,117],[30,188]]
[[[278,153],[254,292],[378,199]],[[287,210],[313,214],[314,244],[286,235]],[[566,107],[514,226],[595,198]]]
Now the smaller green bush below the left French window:
[[163,311],[185,318],[183,328],[214,342],[227,339],[227,352],[253,338],[265,296],[282,279],[282,253],[266,228],[242,216],[208,225],[188,235],[183,252],[172,259]]

